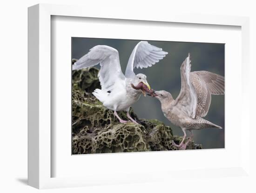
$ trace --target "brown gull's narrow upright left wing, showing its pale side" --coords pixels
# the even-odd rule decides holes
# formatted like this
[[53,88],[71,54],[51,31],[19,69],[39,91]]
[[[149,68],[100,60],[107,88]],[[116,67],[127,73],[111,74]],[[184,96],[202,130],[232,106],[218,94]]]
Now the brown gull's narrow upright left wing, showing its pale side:
[[190,70],[191,61],[189,54],[189,56],[181,65],[182,87],[180,94],[176,99],[176,103],[181,104],[184,110],[188,113],[188,115],[192,118],[195,118],[197,106],[197,93],[194,85],[190,81]]

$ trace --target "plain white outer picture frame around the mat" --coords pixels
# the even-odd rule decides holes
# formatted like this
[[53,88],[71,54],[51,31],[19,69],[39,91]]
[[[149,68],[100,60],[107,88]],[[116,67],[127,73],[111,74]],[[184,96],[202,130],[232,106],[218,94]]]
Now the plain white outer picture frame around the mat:
[[[86,12],[84,10],[87,10]],[[133,13],[102,9],[94,12],[82,6],[63,6],[39,4],[28,8],[28,184],[36,188],[75,187],[96,185],[95,178],[51,178],[51,15],[92,17],[107,19],[131,19],[147,21],[165,21],[194,24],[241,26],[242,28],[242,90],[243,99],[249,95],[249,18],[235,16],[196,15],[196,14],[158,14],[152,18],[151,13]],[[249,100],[243,100],[242,112],[249,112]],[[249,116],[242,114],[243,133],[241,133],[242,166],[233,168],[232,172],[243,176],[249,174]],[[227,168],[225,171],[229,171]],[[223,172],[223,169],[205,169],[190,171],[191,176],[202,175],[207,171],[210,175]],[[231,171],[231,170],[230,170]],[[169,178],[186,174],[186,171],[167,174]],[[141,180],[141,175],[134,177],[128,174],[113,183],[125,183],[133,178],[134,182],[159,180],[147,178]],[[106,180],[104,184],[111,184]]]

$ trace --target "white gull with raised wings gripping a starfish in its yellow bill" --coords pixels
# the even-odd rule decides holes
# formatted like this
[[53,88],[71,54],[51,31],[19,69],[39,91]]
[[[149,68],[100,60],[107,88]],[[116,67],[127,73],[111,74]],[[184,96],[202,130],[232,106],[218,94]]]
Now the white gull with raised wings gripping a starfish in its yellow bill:
[[134,89],[131,84],[138,85],[141,82],[148,86],[147,77],[144,74],[134,73],[134,68],[148,68],[159,62],[168,54],[147,41],[139,42],[128,60],[125,75],[121,71],[119,54],[115,48],[107,45],[96,45],[90,51],[81,57],[72,66],[73,70],[88,68],[97,64],[101,65],[99,71],[99,80],[101,89],[96,89],[93,95],[108,109],[114,110],[115,116],[120,122],[122,120],[116,111],[127,111],[127,117],[137,123],[130,115],[129,109],[141,96],[142,90]]

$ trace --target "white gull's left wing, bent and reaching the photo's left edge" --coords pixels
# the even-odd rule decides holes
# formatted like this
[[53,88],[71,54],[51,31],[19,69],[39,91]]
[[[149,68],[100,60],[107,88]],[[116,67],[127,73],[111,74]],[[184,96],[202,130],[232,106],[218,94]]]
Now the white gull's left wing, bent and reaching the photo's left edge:
[[118,51],[107,45],[96,45],[77,60],[72,70],[79,70],[100,64],[99,80],[102,90],[111,90],[116,82],[124,81]]

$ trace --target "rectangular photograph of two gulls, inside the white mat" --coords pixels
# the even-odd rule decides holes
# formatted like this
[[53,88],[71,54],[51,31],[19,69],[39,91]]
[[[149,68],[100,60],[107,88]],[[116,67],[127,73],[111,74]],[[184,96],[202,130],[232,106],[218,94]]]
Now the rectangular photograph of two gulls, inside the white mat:
[[[72,154],[224,148],[224,44],[77,37],[71,44]],[[108,63],[108,58],[115,56],[112,51],[116,51],[116,58]],[[106,58],[101,54],[107,54]],[[183,90],[189,86],[184,82],[186,76],[183,82],[180,77],[186,73],[187,60],[188,65],[195,63],[189,67],[195,71],[187,78],[195,87],[198,118],[187,114],[192,95]],[[161,91],[153,91],[150,86]],[[151,97],[142,97],[147,92]],[[199,118],[208,111],[209,120],[222,127]],[[174,135],[175,126],[177,130],[188,129],[192,135],[196,132],[198,142],[205,143],[196,144],[191,136]],[[207,131],[202,134],[201,129]]]

